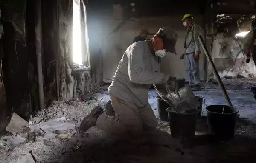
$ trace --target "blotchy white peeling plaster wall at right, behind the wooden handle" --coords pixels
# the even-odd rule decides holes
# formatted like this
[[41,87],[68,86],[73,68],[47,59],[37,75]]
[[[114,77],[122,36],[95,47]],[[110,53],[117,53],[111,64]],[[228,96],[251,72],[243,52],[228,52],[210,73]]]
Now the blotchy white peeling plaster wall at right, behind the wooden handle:
[[[214,42],[212,43],[212,60],[221,77],[256,77],[253,59],[250,59],[250,63],[247,64],[246,58],[240,50],[238,41],[224,37],[222,33],[218,33],[215,36]],[[214,76],[209,64],[207,71],[209,77]]]

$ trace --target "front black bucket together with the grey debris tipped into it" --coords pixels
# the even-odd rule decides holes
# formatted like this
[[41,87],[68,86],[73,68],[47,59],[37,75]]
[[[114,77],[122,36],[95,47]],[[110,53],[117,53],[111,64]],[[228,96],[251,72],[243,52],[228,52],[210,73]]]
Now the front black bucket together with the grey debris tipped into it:
[[167,108],[172,137],[180,139],[193,137],[200,102],[190,87],[168,92],[169,102],[172,103],[171,107]]

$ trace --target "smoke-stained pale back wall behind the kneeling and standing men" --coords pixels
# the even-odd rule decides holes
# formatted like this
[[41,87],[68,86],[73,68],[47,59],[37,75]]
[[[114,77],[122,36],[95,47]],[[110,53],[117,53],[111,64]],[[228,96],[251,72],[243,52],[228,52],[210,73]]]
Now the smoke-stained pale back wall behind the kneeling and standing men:
[[[122,27],[111,34],[111,31],[116,28],[122,20],[112,20],[111,18],[102,21],[104,28],[102,28],[102,53],[103,53],[103,81],[111,82],[113,75],[116,71],[117,65],[122,58],[123,53],[133,43],[134,37],[136,37],[140,29],[147,28],[150,33],[156,33],[157,30],[163,26],[171,26],[178,34],[178,40],[176,43],[177,55],[168,53],[169,55],[162,59],[161,70],[164,73],[168,73],[171,76],[177,78],[185,78],[189,80],[186,75],[186,59],[179,60],[180,55],[184,50],[184,42],[186,37],[186,28],[183,26],[183,22],[180,21],[180,17],[183,15],[174,17],[145,17],[140,19],[130,19],[123,23]],[[200,15],[195,15],[195,22],[204,28],[204,19]],[[202,35],[204,38],[204,30]],[[149,36],[152,37],[152,36]],[[200,57],[200,75],[201,80],[206,79],[206,70],[204,68],[205,55],[201,50]]]

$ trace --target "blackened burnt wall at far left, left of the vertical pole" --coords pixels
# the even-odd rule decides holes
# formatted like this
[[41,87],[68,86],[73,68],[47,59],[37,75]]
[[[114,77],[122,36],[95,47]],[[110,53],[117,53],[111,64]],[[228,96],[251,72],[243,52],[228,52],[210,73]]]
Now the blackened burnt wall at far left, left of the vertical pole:
[[[1,39],[2,83],[1,96],[5,90],[5,98],[1,100],[4,106],[1,110],[2,130],[7,124],[12,112],[27,119],[31,113],[29,98],[29,56],[26,47],[26,3],[25,0],[2,0],[2,24],[4,35]],[[4,87],[3,87],[4,85]]]

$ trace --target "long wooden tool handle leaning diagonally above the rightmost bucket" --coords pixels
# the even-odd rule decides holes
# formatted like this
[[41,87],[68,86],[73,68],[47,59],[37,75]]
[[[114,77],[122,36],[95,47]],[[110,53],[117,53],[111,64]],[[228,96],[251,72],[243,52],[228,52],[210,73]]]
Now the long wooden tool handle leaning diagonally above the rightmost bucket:
[[212,57],[210,56],[210,53],[209,53],[209,51],[208,51],[207,48],[206,48],[206,45],[205,45],[205,43],[204,43],[204,40],[203,40],[202,36],[199,35],[199,36],[198,36],[198,39],[199,39],[199,42],[200,42],[200,44],[201,44],[201,46],[202,46],[202,48],[203,48],[203,50],[204,50],[204,53],[205,53],[205,55],[206,55],[206,57],[207,57],[209,63],[212,65],[213,73],[214,73],[214,75],[215,75],[216,78],[217,78],[217,82],[218,82],[219,86],[221,86],[221,90],[222,90],[223,96],[224,96],[224,98],[226,99],[227,104],[232,107],[233,105],[232,105],[232,103],[231,103],[231,101],[230,101],[230,98],[229,98],[229,96],[228,96],[228,94],[227,94],[227,91],[226,91],[226,89],[225,89],[225,87],[224,87],[224,84],[223,84],[223,82],[221,81],[221,77],[219,76],[218,71],[217,71],[217,69],[216,69],[216,67],[215,67],[215,65],[214,65],[214,63],[213,63],[213,61],[212,61]]

